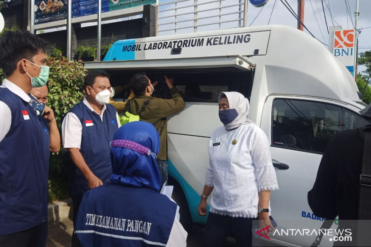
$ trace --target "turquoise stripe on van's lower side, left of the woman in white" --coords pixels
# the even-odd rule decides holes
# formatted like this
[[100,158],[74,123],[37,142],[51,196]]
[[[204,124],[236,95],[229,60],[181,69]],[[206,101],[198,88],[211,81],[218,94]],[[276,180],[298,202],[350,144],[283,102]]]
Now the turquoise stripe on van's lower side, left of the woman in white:
[[167,161],[168,163],[168,176],[173,177],[182,188],[185,198],[187,199],[188,207],[190,209],[190,213],[192,216],[193,223],[201,223],[206,224],[207,217],[209,215],[209,205],[207,205],[207,215],[206,216],[199,216],[197,212],[197,207],[200,204],[200,195],[185,181],[185,179],[181,176],[178,170],[174,167],[173,163],[170,160]]

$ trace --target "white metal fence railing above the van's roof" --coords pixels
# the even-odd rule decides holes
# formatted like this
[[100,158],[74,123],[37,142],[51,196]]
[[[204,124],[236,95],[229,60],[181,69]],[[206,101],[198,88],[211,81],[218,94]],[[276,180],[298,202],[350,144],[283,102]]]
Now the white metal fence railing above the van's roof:
[[[246,26],[247,0],[177,0],[158,4],[157,35],[197,32],[200,27]],[[231,25],[229,26],[231,27]],[[193,29],[193,30],[192,30]]]

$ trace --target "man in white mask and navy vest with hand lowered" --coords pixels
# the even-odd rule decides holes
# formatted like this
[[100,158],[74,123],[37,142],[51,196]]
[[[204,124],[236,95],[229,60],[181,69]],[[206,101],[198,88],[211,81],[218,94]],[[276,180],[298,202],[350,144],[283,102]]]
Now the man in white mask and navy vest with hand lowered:
[[[109,181],[112,174],[110,146],[120,127],[118,114],[109,104],[112,94],[108,74],[92,71],[85,77],[86,97],[72,107],[62,123],[63,148],[69,151],[68,190],[73,201],[73,222],[83,194]],[[72,246],[78,246],[72,236]]]

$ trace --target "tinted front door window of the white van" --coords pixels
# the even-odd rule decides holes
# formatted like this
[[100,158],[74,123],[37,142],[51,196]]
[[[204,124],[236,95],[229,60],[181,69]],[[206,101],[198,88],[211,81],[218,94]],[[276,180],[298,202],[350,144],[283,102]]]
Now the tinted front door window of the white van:
[[370,124],[343,107],[316,101],[275,99],[272,146],[323,153],[336,133]]

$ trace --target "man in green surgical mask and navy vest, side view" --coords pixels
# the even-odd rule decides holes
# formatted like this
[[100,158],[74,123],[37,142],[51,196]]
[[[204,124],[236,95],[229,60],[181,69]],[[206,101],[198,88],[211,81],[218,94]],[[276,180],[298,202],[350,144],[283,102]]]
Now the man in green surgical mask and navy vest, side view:
[[46,244],[49,136],[29,94],[47,83],[45,46],[25,31],[6,31],[0,39],[6,75],[0,87],[1,247]]

